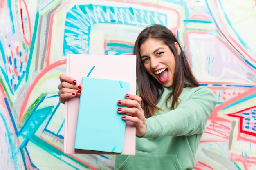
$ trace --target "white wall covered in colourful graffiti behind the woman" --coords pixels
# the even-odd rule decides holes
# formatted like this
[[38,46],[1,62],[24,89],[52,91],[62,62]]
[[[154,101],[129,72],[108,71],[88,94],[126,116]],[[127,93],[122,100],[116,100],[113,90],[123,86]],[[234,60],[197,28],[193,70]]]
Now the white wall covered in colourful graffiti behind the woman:
[[58,76],[67,54],[131,54],[171,29],[218,104],[194,170],[256,169],[256,0],[0,0],[0,170],[112,170],[113,155],[63,153]]

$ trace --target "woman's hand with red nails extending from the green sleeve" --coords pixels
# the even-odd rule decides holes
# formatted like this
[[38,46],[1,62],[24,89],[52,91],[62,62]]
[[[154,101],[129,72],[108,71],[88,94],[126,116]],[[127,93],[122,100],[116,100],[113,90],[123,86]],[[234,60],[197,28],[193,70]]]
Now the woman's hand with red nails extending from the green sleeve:
[[118,108],[118,113],[127,113],[123,115],[125,121],[131,121],[135,123],[136,135],[142,137],[146,133],[146,120],[144,111],[141,108],[141,97],[132,94],[126,94],[126,99],[118,100],[119,106],[127,106],[127,108]]

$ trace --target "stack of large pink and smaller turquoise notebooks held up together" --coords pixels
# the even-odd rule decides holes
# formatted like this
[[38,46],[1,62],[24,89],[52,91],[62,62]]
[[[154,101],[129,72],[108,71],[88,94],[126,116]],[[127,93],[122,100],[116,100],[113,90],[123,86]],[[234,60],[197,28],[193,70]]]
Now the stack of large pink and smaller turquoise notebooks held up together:
[[136,93],[136,56],[67,55],[67,75],[82,84],[65,102],[64,153],[135,154],[135,125],[117,101]]

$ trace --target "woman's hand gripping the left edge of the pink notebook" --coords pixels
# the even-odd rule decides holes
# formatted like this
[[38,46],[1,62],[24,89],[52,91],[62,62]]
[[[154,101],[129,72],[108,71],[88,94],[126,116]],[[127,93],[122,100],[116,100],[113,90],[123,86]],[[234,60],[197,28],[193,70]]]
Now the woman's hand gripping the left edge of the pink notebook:
[[58,85],[58,95],[61,103],[65,104],[65,100],[81,95],[82,86],[77,84],[76,80],[65,74],[60,75],[61,84]]

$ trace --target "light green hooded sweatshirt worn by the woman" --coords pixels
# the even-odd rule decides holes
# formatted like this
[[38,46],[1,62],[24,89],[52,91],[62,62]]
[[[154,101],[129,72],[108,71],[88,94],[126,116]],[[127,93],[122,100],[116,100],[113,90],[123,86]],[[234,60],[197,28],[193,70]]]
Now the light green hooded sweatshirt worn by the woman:
[[163,111],[146,119],[146,134],[136,137],[136,154],[116,155],[115,170],[193,169],[195,152],[216,98],[207,87],[184,88],[179,105],[171,110],[165,104],[171,91],[164,88],[157,104]]

